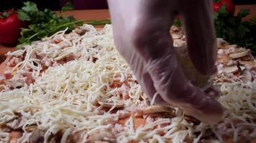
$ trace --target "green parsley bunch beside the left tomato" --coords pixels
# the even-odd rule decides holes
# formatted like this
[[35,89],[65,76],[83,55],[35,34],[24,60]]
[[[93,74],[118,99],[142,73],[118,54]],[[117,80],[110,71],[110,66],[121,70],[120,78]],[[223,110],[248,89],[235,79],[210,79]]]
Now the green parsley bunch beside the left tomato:
[[51,36],[55,32],[68,28],[70,32],[76,26],[83,24],[83,21],[77,21],[73,16],[65,17],[63,12],[73,9],[72,4],[67,3],[60,11],[60,16],[50,9],[39,11],[37,5],[33,2],[24,2],[22,9],[18,10],[18,17],[26,21],[28,28],[22,29],[19,44],[30,44],[32,41],[42,39],[45,36]]

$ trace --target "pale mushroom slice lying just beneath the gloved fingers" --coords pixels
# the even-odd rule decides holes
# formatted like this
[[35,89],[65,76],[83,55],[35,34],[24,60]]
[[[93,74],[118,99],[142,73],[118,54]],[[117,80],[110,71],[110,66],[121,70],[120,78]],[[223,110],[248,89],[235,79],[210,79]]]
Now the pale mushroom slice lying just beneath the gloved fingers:
[[170,112],[173,113],[174,110],[170,107],[163,107],[160,105],[152,105],[150,107],[146,107],[142,110],[143,114],[155,114],[155,113],[163,113],[163,112]]

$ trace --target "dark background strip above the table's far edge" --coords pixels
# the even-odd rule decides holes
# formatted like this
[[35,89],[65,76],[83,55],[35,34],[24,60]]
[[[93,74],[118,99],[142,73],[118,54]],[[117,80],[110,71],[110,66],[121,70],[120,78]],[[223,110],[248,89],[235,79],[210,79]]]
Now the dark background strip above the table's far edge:
[[[27,0],[0,0],[0,11],[4,9],[19,9],[22,3]],[[30,0],[42,9],[59,10],[67,1],[71,1],[75,9],[107,9],[106,0]],[[128,0],[129,1],[129,0]],[[233,0],[234,4],[256,4],[256,0]]]

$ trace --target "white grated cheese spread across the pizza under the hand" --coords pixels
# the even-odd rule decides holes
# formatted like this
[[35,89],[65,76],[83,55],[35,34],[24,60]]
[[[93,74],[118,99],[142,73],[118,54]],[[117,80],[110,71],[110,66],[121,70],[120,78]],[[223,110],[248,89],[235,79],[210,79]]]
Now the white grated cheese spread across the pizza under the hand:
[[[114,47],[111,25],[101,31],[87,24],[80,29],[85,34],[59,31],[9,53],[9,56],[25,54],[12,71],[31,69],[35,79],[32,84],[13,90],[6,87],[0,93],[0,127],[20,113],[25,121],[20,142],[31,136],[31,127],[44,132],[44,142],[60,132],[63,134],[60,142],[68,142],[72,134],[81,131],[84,131],[83,142],[96,141],[93,140],[96,132],[98,137],[102,136],[101,140],[108,142],[223,142],[224,137],[233,137],[234,141],[248,134],[256,137],[256,84],[253,82],[221,85],[219,102],[224,107],[225,119],[219,126],[196,124],[175,109],[175,117],[144,114],[146,125],[135,129],[130,113],[149,105],[131,69]],[[47,59],[38,59],[38,55]],[[72,58],[61,61],[67,57]],[[47,62],[42,64],[43,60]],[[100,99],[107,99],[113,105],[102,107]],[[116,108],[120,102],[123,107]],[[119,122],[125,118],[124,124]],[[9,139],[9,133],[0,129],[0,142]]]

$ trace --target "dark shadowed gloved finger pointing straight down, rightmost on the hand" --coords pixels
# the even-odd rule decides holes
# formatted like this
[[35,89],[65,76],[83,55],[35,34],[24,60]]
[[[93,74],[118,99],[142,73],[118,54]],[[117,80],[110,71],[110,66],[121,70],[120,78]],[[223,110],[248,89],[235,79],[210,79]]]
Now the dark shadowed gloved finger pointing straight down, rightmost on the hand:
[[182,0],[180,14],[186,31],[191,61],[201,74],[216,71],[216,36],[211,0]]

